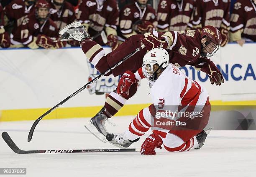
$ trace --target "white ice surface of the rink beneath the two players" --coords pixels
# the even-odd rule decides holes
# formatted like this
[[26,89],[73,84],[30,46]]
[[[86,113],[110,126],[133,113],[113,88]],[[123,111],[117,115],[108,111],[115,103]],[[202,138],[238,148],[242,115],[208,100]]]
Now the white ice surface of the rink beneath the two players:
[[[133,116],[114,117],[109,127],[124,132]],[[22,150],[117,148],[102,143],[84,128],[89,118],[41,120],[31,142],[33,121],[0,122]],[[148,135],[148,134],[147,134]],[[146,135],[131,148],[140,148]],[[0,138],[0,168],[27,168],[27,177],[254,177],[256,131],[211,131],[204,147],[189,152],[156,150],[140,152],[76,154],[15,154]],[[12,175],[0,175],[10,177]]]

